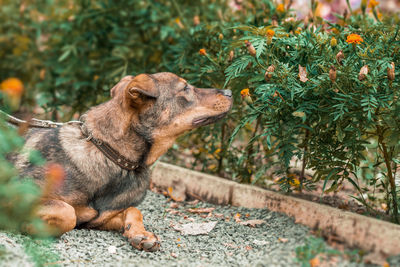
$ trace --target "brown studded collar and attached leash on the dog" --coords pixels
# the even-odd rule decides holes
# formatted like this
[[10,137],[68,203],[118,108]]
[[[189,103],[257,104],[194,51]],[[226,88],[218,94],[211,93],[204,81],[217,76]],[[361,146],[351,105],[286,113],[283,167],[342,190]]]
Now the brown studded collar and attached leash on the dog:
[[28,124],[29,127],[31,128],[58,128],[60,126],[63,126],[64,124],[79,124],[80,129],[82,134],[86,137],[87,142],[92,142],[98,150],[100,150],[104,156],[106,156],[109,160],[117,164],[119,167],[121,167],[124,170],[128,171],[134,171],[139,167],[138,163],[132,162],[122,156],[118,151],[116,151],[114,148],[112,148],[108,143],[94,138],[92,133],[88,132],[88,130],[85,127],[84,122],[82,121],[69,121],[66,123],[60,123],[60,122],[53,122],[53,121],[48,121],[48,120],[38,120],[38,119],[31,119],[30,121],[25,121],[25,120],[20,120],[18,118],[15,118],[3,111],[0,110],[0,114],[6,117],[6,121],[8,123],[11,123],[16,126],[20,126],[23,124]]

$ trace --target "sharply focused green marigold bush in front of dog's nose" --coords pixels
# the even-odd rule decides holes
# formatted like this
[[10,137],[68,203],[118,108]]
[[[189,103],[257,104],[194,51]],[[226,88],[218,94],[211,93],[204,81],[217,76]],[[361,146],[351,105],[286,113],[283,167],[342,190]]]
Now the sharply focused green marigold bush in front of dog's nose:
[[[329,192],[348,180],[362,196],[369,191],[359,186],[364,180],[386,192],[398,222],[400,83],[393,69],[400,64],[398,18],[376,21],[353,15],[344,26],[304,25],[298,33],[293,23],[275,28],[270,44],[263,27],[239,28],[241,40],[253,43],[257,54],[253,57],[243,48],[226,69],[228,82],[248,82],[254,101],[238,129],[253,121],[262,125],[251,142],[261,142],[279,158],[285,189],[292,179],[290,161],[298,158],[303,171],[315,171],[308,181],[304,172],[300,175],[300,188],[322,179],[323,190]],[[363,41],[351,43],[350,34]],[[246,69],[249,62],[252,67]],[[268,71],[271,65],[274,70]]]

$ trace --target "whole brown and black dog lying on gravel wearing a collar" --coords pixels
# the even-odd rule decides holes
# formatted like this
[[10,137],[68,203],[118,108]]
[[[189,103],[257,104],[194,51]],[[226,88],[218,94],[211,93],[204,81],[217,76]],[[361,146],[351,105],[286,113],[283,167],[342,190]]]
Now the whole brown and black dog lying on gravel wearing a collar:
[[[232,103],[230,90],[196,88],[173,73],[140,74],[124,77],[80,122],[31,128],[24,149],[65,173],[42,196],[39,217],[57,235],[77,227],[120,231],[133,247],[157,251],[160,242],[135,207],[149,188],[149,167],[179,135],[223,118]],[[45,167],[26,153],[13,161],[21,176],[46,186]]]

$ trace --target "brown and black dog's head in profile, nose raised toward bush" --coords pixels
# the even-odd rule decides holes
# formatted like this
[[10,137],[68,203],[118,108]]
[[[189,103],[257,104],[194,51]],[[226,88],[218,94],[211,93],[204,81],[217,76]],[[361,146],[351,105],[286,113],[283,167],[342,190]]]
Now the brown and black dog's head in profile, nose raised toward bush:
[[111,97],[129,118],[127,129],[142,132],[164,152],[185,131],[216,122],[232,107],[230,90],[197,88],[168,72],[126,76]]

